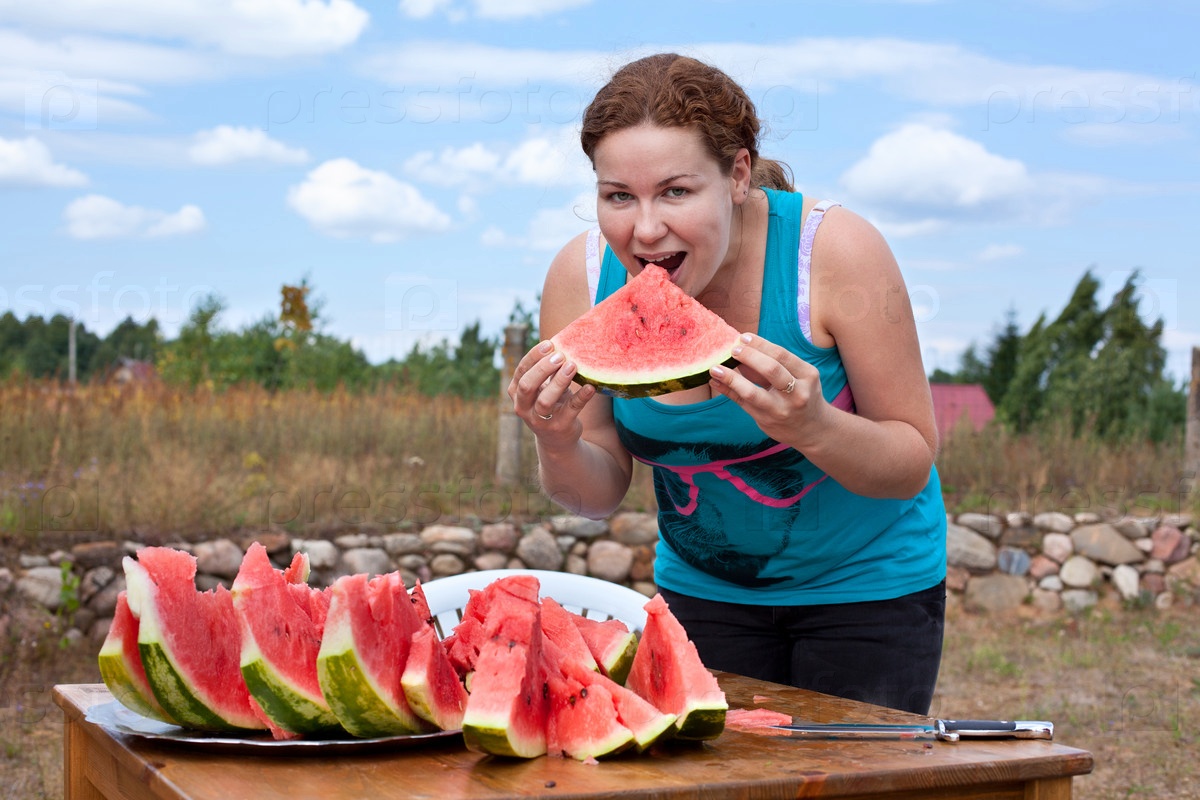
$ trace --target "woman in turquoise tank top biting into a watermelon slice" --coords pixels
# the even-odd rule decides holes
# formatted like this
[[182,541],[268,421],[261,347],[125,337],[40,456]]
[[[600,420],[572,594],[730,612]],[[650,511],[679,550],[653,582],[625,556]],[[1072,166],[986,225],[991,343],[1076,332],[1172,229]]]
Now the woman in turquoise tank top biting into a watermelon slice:
[[613,401],[544,341],[509,395],[544,489],[576,513],[612,513],[632,459],[653,465],[655,581],[706,666],[924,714],[946,512],[911,303],[880,234],[796,193],[758,127],[694,59],[619,70],[583,118],[599,231],[558,253],[541,297],[548,339],[658,264],[745,331],[739,366]]

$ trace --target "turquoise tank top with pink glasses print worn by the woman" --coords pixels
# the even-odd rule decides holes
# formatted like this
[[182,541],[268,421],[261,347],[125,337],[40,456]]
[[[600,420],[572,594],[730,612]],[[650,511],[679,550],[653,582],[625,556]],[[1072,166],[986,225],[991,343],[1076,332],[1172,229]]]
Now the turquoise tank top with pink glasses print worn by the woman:
[[[767,198],[758,333],[816,366],[826,399],[852,411],[838,349],[815,347],[798,323],[803,198],[769,190]],[[606,251],[596,300],[626,276]],[[889,600],[946,577],[936,470],[914,498],[865,498],[764,434],[726,397],[686,405],[612,403],[622,444],[653,468],[660,587],[733,603],[805,606]]]

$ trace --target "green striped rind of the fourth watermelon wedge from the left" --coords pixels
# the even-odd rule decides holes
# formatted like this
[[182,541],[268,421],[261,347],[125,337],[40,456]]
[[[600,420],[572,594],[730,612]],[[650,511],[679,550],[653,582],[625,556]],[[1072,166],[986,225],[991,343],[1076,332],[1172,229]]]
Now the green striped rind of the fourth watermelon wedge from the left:
[[317,675],[329,708],[352,735],[376,739],[430,732],[420,717],[384,699],[353,646],[323,651],[317,658]]

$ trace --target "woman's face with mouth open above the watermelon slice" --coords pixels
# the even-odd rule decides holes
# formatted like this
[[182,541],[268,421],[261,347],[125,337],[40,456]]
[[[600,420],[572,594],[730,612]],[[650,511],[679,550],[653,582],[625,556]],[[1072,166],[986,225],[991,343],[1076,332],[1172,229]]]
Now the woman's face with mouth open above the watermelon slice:
[[749,187],[749,154],[725,174],[697,132],[643,125],[601,139],[593,163],[600,230],[631,275],[658,264],[697,296],[736,258],[733,206]]

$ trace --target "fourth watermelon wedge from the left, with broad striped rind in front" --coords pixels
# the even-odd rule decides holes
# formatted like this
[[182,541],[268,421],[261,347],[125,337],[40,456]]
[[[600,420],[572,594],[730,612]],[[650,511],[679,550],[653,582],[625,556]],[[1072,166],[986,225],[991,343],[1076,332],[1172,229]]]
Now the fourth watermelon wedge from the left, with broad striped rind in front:
[[432,730],[400,682],[422,627],[400,573],[343,576],[330,591],[317,675],[342,727],[364,738]]

